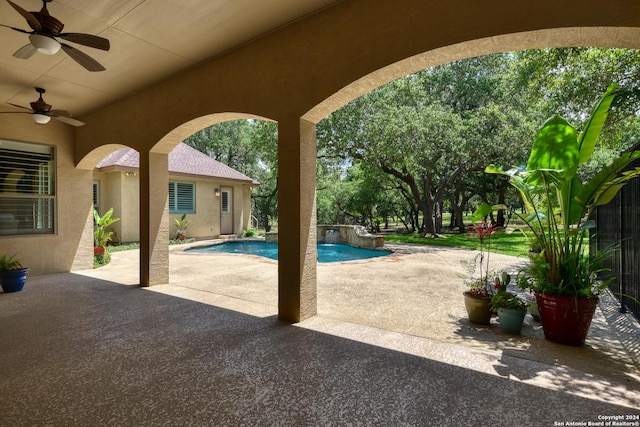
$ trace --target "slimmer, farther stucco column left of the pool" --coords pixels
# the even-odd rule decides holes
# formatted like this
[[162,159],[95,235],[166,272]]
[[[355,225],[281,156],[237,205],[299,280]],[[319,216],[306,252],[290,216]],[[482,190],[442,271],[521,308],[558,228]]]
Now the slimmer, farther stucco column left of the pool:
[[169,155],[140,152],[140,286],[169,282]]

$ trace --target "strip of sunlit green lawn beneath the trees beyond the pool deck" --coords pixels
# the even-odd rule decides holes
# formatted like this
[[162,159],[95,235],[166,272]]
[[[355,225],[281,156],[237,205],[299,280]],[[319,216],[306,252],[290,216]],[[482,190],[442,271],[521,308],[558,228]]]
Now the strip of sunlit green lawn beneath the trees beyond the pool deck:
[[[448,246],[464,249],[480,249],[480,241],[473,233],[467,234],[444,234],[442,238],[420,237],[419,234],[385,234],[387,242],[419,243],[421,245]],[[487,249],[485,240],[485,250]],[[507,233],[497,232],[491,236],[491,252],[526,256],[529,251],[529,241],[520,232]]]

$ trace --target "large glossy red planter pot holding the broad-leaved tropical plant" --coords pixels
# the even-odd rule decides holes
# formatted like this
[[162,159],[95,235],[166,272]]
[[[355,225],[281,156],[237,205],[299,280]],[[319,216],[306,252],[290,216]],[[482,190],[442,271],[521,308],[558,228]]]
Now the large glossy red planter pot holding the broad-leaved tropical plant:
[[598,298],[537,294],[536,301],[546,339],[565,345],[584,344]]

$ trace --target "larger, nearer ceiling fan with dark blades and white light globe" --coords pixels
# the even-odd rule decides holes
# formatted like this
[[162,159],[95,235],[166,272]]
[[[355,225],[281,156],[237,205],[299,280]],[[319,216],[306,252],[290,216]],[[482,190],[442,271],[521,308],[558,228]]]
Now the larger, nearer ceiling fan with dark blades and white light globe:
[[64,24],[49,15],[49,11],[47,10],[47,3],[51,1],[52,0],[42,0],[42,9],[40,12],[27,12],[11,0],[7,0],[7,3],[9,3],[11,7],[13,7],[24,19],[27,20],[27,24],[29,24],[29,27],[33,30],[26,31],[9,25],[0,24],[2,27],[11,28],[12,30],[29,34],[29,40],[31,43],[18,49],[13,56],[20,59],[28,59],[31,58],[36,51],[44,53],[45,55],[53,55],[62,47],[62,50],[64,50],[67,55],[87,70],[103,71],[105,68],[98,61],[68,44],[59,42],[56,38],[61,38],[83,46],[102,50],[109,50],[109,40],[93,36],[91,34],[62,33],[61,31],[64,28]]

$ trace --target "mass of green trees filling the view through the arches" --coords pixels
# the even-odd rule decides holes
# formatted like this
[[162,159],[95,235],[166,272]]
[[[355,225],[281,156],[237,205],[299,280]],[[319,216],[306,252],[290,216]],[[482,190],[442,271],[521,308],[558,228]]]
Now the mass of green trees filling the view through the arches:
[[[376,227],[389,217],[437,236],[442,213],[464,230],[474,203],[517,205],[490,164],[523,164],[536,130],[553,114],[580,130],[606,88],[623,88],[587,179],[598,165],[637,144],[640,53],[625,49],[543,49],[470,58],[432,67],[353,100],[317,126],[319,223]],[[254,214],[277,220],[277,124],[239,120],[192,135],[187,144],[257,179]],[[500,218],[497,218],[500,221]]]

